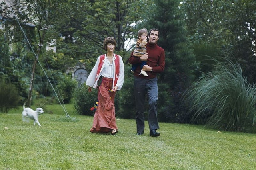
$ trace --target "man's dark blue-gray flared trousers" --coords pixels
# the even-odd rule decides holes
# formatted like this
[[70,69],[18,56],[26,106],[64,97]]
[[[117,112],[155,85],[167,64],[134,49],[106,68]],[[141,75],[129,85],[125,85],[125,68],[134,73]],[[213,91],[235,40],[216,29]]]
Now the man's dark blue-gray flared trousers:
[[136,103],[136,125],[137,133],[144,133],[145,119],[144,119],[144,101],[146,94],[148,95],[148,126],[149,130],[159,129],[157,120],[157,106],[158,100],[158,86],[157,78],[144,79],[134,77],[134,92]]

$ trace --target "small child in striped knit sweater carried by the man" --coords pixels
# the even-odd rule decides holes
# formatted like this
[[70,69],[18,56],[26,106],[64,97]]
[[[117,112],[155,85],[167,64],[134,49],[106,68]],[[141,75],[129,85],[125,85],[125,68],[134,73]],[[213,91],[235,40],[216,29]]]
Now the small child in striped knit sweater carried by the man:
[[[138,39],[137,39],[137,43],[136,43],[136,47],[135,50],[133,52],[133,55],[136,57],[140,57],[143,54],[145,54],[147,52],[147,34],[148,34],[148,30],[146,28],[140,29],[138,31]],[[142,69],[142,67],[144,65],[146,65],[146,61],[142,61],[142,63],[140,64],[140,68]],[[134,73],[134,70],[136,70],[136,67],[138,66],[138,64],[134,64],[132,65],[132,73]],[[140,74],[144,75],[144,76],[148,76],[148,74],[146,73],[146,71],[141,70]]]

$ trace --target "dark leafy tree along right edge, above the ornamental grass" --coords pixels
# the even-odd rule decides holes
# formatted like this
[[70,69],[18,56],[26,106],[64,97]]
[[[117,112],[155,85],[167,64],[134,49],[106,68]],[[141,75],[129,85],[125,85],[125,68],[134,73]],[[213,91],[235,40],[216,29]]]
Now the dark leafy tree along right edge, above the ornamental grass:
[[228,29],[232,32],[231,59],[238,62],[244,76],[250,83],[256,82],[256,1],[239,0],[232,4],[233,16],[228,21]]

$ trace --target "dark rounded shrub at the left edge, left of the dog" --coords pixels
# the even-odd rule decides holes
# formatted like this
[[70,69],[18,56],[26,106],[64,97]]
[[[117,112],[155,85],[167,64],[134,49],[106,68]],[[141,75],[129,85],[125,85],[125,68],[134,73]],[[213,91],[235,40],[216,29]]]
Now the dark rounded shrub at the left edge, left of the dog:
[[17,88],[10,83],[0,82],[0,112],[8,113],[17,108],[20,101]]

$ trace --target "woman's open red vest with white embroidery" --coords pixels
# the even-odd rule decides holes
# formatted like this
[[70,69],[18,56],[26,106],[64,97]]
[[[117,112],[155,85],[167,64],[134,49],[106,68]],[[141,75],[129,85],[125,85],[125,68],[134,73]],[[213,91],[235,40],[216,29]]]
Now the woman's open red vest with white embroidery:
[[[112,88],[114,88],[114,86],[116,86],[117,80],[119,78],[119,55],[115,54],[115,57],[116,57],[115,59],[113,58],[114,61],[112,61],[114,64],[114,73],[115,73],[115,75],[113,76],[113,87]],[[101,55],[100,63],[99,63],[97,74],[96,74],[96,84],[100,78],[100,73],[103,70],[104,62],[105,62],[105,55]]]

